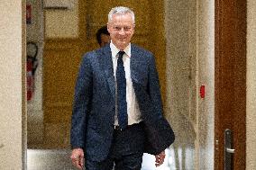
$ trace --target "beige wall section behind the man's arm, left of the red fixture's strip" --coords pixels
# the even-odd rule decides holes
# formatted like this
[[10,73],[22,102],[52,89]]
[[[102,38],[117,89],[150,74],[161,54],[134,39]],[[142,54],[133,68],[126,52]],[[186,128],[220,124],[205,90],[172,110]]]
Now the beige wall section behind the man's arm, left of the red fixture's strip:
[[165,1],[167,104],[177,169],[197,169],[197,2]]

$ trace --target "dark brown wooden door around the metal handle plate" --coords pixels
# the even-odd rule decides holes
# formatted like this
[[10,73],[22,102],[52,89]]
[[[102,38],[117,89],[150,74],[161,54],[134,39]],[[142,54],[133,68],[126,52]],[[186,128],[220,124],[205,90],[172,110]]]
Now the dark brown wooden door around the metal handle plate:
[[215,0],[215,169],[224,169],[225,129],[233,169],[246,168],[246,13],[246,0]]

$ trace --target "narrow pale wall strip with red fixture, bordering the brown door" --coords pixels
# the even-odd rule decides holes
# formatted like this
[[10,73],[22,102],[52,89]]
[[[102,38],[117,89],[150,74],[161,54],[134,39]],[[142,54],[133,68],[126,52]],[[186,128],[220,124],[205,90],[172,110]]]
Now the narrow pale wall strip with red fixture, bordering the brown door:
[[215,145],[215,0],[197,1],[198,87],[206,85],[206,98],[198,98],[198,169],[214,169]]

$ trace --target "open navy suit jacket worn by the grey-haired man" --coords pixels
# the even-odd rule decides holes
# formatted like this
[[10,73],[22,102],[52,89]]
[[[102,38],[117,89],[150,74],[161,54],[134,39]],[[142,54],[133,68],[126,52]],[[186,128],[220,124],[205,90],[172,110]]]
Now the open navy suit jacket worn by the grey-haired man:
[[[150,51],[131,46],[131,77],[146,134],[145,152],[157,155],[174,141],[162,114],[159,77]],[[114,132],[114,68],[109,44],[82,59],[73,103],[71,147],[84,148],[92,160],[109,152]]]

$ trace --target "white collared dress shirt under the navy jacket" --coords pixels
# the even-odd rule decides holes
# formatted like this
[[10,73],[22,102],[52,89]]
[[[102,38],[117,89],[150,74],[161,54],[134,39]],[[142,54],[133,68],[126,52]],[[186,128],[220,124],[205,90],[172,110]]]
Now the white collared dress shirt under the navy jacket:
[[[116,84],[116,67],[117,67],[117,59],[118,59],[118,52],[120,49],[117,49],[114,44],[110,43],[110,49],[112,52],[112,61],[113,61],[113,68],[114,68],[114,85],[115,85],[115,116],[114,116],[114,125],[118,125],[117,119],[117,84]],[[136,96],[133,89],[133,82],[131,78],[131,43],[123,49],[125,52],[123,54],[123,67],[125,71],[125,78],[126,78],[126,102],[127,102],[127,114],[128,114],[128,125],[132,125],[134,123],[139,123],[142,121],[142,114],[139,109],[139,104],[136,100]]]

